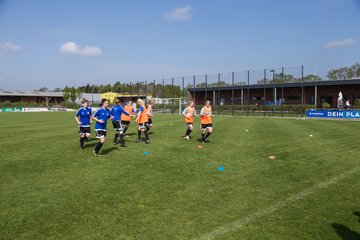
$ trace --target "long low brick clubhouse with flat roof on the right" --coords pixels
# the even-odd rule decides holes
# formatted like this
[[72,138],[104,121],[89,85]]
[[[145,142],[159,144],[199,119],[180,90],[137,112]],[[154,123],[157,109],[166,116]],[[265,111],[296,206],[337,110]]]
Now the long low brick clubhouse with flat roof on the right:
[[210,100],[214,105],[314,105],[327,102],[337,107],[338,94],[344,100],[360,99],[360,78],[316,82],[253,84],[190,88],[189,99],[196,104]]

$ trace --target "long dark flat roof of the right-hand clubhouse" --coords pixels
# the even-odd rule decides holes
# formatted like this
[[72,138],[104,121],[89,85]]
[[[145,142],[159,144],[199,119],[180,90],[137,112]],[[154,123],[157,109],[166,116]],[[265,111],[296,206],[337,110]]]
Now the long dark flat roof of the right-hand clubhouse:
[[[261,88],[273,88],[275,87],[321,87],[321,86],[344,86],[344,85],[360,85],[360,78],[353,79],[345,79],[345,80],[326,80],[326,81],[316,81],[316,82],[296,82],[296,83],[275,83],[275,84],[250,84],[250,85],[235,85],[234,89],[261,89]],[[233,87],[228,86],[220,86],[220,87],[196,87],[190,88],[189,91],[202,92],[205,90],[231,90]]]

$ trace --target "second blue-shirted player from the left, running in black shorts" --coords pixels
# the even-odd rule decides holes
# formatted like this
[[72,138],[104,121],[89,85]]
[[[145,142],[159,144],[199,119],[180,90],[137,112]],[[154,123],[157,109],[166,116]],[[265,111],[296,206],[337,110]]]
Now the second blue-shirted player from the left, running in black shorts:
[[99,110],[97,110],[92,116],[92,119],[96,121],[95,124],[96,138],[99,139],[99,142],[96,144],[95,148],[93,149],[93,154],[95,157],[99,156],[100,149],[106,140],[107,120],[112,118],[110,110],[107,108],[108,106],[109,106],[109,102],[106,99],[102,99]]

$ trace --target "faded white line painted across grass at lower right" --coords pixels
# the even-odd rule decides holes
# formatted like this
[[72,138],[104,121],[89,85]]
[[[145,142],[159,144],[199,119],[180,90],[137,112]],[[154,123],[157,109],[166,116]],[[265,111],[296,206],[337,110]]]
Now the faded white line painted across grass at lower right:
[[255,212],[253,214],[248,215],[245,218],[241,218],[235,222],[226,224],[224,226],[221,226],[209,233],[206,233],[205,235],[195,238],[194,240],[212,240],[215,239],[217,237],[221,237],[224,236],[227,233],[236,231],[237,229],[241,228],[242,226],[249,224],[251,222],[255,222],[256,220],[260,219],[261,217],[264,217],[266,215],[272,214],[277,210],[280,210],[282,208],[287,207],[288,205],[295,203],[297,201],[300,201],[301,199],[307,197],[310,194],[313,194],[317,191],[319,191],[320,189],[326,188],[327,186],[334,184],[340,180],[342,180],[343,178],[352,175],[353,173],[355,173],[356,171],[358,171],[360,168],[355,168],[349,171],[346,171],[336,177],[330,178],[327,181],[324,181],[322,183],[319,183],[318,185],[308,188],[292,197],[289,197],[288,199],[278,202],[275,205],[272,205],[268,208],[262,209],[258,212]]

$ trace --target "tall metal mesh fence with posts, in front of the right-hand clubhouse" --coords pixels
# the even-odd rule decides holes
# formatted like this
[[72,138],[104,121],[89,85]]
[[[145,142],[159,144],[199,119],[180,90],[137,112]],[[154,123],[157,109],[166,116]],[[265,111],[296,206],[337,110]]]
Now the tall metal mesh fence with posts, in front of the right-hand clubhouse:
[[310,96],[306,98],[303,83],[317,80],[309,72],[304,75],[304,66],[280,67],[147,80],[129,83],[127,92],[168,99],[156,104],[159,113],[179,113],[190,100],[200,109],[210,100],[218,115],[288,116],[303,115],[306,108],[316,106]]

